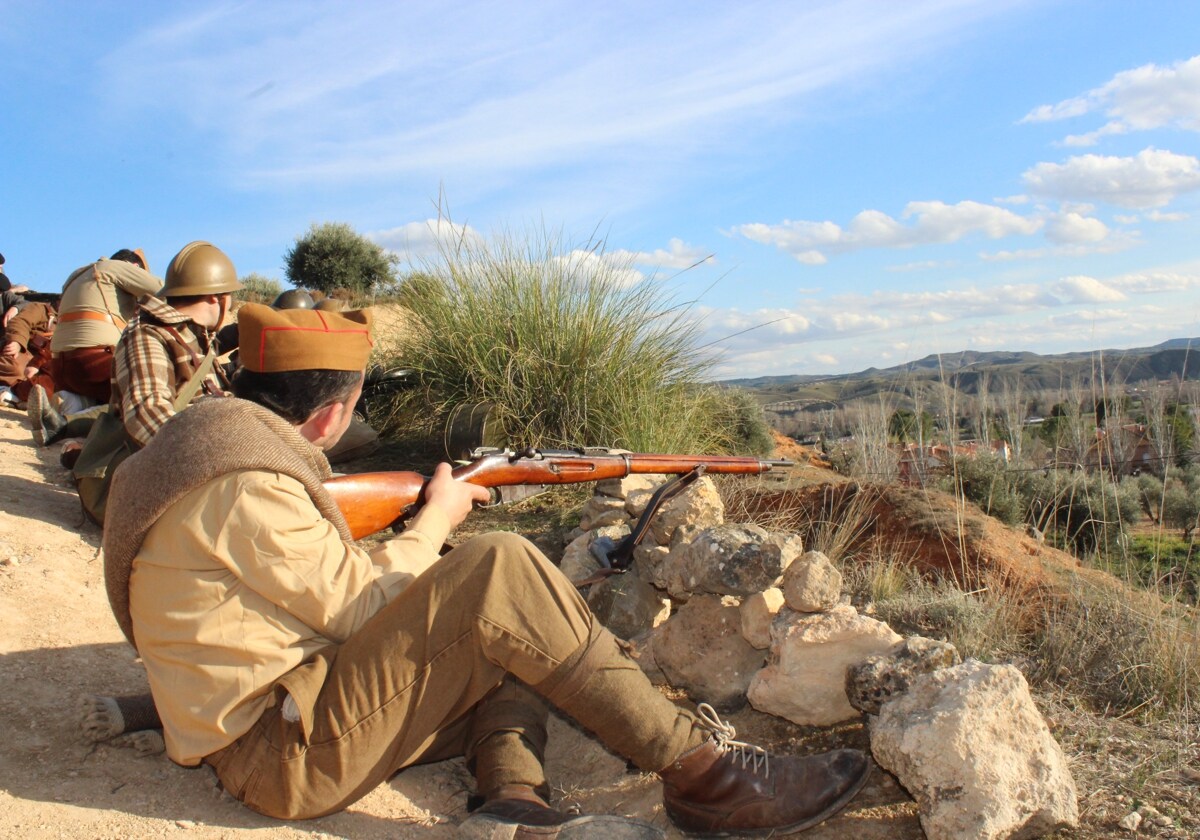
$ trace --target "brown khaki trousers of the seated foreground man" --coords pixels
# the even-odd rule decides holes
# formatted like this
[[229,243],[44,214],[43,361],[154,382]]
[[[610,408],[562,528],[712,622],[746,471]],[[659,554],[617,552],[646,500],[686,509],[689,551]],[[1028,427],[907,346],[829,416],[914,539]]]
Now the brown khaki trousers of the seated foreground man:
[[[605,674],[616,673],[636,703],[637,724],[613,726],[612,708],[626,698],[602,697],[606,712],[592,726],[601,740],[619,746],[630,731],[649,732],[640,743],[653,749],[641,760],[653,769],[695,740],[691,716],[629,662],[570,581],[527,540],[488,534],[443,557],[343,644],[283,677],[250,732],[205,761],[234,797],[281,818],[330,814],[404,767],[456,755],[479,764],[481,793],[544,787],[545,707],[526,686],[545,683],[552,701],[552,685],[569,691],[565,710],[589,726],[589,680],[566,679],[583,670],[600,676],[593,684],[606,695]],[[299,720],[283,715],[287,695]]]

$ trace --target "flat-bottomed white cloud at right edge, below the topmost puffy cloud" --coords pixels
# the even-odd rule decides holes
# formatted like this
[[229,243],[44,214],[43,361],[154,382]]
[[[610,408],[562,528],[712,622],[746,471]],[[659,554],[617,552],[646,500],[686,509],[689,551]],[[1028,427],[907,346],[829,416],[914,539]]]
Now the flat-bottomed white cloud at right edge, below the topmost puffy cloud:
[[1144,149],[1133,157],[1081,155],[1066,163],[1038,163],[1022,179],[1038,196],[1144,210],[1200,190],[1200,161],[1159,149]]

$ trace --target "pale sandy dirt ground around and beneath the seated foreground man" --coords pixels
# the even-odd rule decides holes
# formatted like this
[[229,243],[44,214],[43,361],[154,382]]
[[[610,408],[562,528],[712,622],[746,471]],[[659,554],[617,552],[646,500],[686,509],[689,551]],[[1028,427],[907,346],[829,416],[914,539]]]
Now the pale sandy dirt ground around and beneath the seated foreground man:
[[[438,838],[455,836],[470,778],[461,761],[406,770],[349,810],[286,823],[224,794],[208,768],[80,738],[86,694],[136,694],[145,676],[104,595],[100,529],[85,523],[59,449],[32,444],[23,412],[0,409],[0,838]],[[809,732],[744,710],[739,737],[804,751],[866,745],[862,725]],[[559,804],[624,814],[680,836],[660,786],[628,772],[562,719],[551,721],[547,770]],[[919,839],[916,806],[876,773],[814,840]]]

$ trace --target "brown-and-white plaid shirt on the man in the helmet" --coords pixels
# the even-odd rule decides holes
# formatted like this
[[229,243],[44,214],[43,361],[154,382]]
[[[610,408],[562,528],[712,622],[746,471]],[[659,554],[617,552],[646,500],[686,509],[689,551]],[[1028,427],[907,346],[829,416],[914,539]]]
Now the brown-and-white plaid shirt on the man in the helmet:
[[[188,320],[157,298],[138,301],[138,312],[121,334],[113,354],[113,412],[137,448],[145,446],[175,414],[175,397],[200,366],[214,334]],[[228,386],[214,364],[192,402],[223,396]]]

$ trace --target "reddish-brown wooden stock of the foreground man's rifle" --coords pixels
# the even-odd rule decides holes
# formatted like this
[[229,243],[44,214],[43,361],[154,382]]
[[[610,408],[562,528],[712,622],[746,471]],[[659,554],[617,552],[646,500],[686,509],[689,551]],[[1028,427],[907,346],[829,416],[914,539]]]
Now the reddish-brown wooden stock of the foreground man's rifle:
[[[682,475],[696,467],[707,473],[757,475],[791,461],[763,461],[728,455],[589,455],[576,450],[526,450],[482,455],[454,469],[455,479],[480,487],[578,484],[631,474]],[[354,539],[383,530],[416,510],[428,476],[389,472],[338,475],[325,490],[346,516]]]

